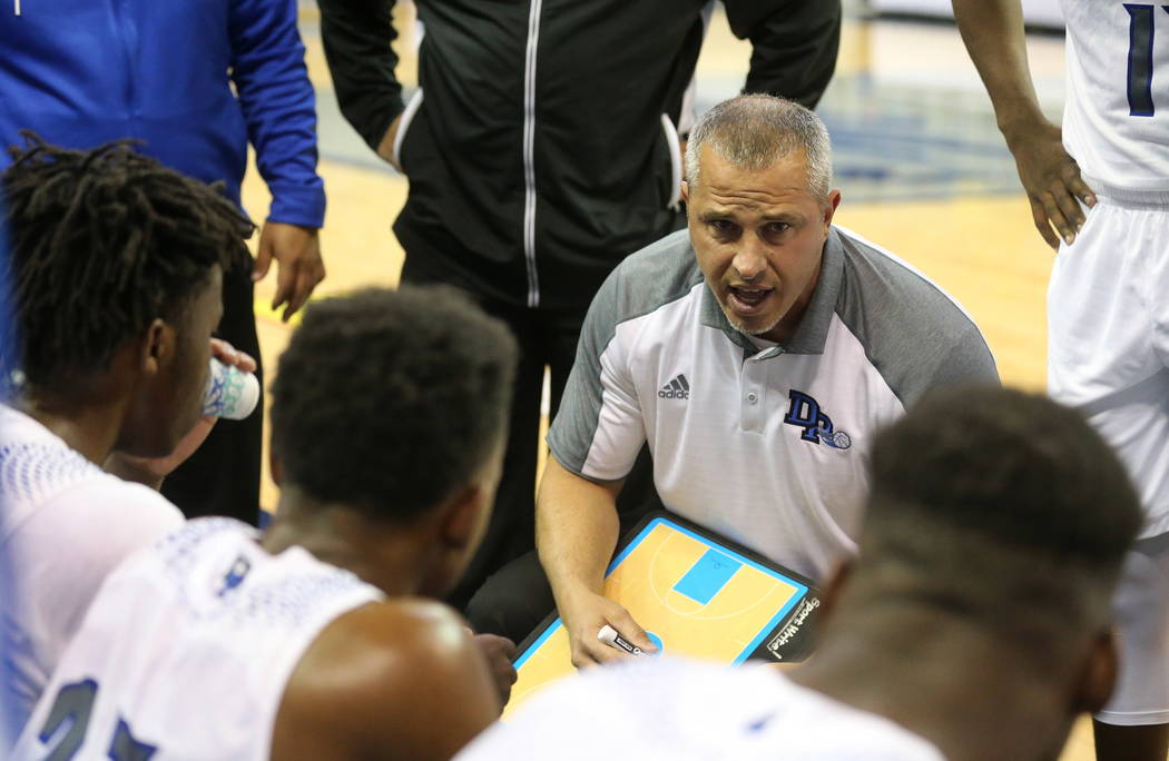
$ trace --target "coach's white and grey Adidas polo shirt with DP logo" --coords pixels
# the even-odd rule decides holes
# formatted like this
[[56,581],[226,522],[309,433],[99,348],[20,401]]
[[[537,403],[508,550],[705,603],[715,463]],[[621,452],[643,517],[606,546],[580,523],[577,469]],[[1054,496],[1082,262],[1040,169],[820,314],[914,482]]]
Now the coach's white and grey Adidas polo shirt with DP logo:
[[970,317],[855,233],[831,229],[795,334],[760,346],[727,321],[680,230],[597,292],[548,445],[607,482],[649,442],[670,510],[819,577],[856,552],[877,429],[931,388],[974,382],[998,374]]

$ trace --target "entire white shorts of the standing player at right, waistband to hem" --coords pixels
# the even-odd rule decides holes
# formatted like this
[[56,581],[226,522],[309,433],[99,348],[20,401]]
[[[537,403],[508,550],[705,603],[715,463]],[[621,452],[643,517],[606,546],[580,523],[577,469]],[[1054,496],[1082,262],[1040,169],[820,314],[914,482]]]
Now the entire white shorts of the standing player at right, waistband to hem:
[[1114,609],[1120,678],[1097,719],[1169,722],[1169,198],[1099,198],[1047,289],[1047,390],[1113,445],[1146,512]]

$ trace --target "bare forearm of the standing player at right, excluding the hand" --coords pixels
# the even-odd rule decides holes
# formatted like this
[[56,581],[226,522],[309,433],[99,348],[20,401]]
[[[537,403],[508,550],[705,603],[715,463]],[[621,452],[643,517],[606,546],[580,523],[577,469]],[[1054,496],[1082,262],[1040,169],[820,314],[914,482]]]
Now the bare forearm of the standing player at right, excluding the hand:
[[1021,130],[1045,124],[1031,82],[1019,0],[953,0],[962,41],[1011,144]]

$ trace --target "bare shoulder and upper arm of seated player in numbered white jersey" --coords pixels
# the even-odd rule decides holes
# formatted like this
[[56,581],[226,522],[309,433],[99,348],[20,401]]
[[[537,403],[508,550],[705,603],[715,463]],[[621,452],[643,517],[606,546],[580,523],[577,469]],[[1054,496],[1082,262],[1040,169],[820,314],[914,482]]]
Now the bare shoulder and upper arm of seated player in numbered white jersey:
[[449,759],[499,715],[478,648],[445,606],[372,603],[326,627],[289,679],[272,761]]

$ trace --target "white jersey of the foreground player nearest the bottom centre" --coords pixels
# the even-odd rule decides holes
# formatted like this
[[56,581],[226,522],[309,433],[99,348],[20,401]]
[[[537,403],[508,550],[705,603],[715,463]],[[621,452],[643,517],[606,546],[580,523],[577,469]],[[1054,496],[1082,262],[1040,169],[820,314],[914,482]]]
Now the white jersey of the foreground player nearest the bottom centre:
[[943,761],[908,729],[797,685],[772,666],[671,657],[562,679],[456,759]]

